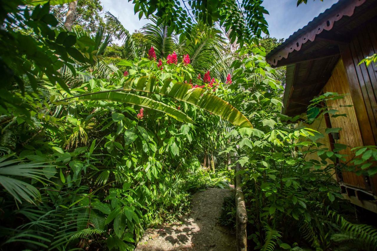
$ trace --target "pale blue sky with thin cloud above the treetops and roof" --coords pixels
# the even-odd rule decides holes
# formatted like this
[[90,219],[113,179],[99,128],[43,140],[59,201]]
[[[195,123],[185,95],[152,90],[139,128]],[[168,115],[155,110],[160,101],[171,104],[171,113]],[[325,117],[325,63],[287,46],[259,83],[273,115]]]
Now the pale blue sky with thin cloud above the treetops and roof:
[[[139,20],[134,15],[133,4],[126,0],[101,0],[104,11],[110,11],[118,17],[129,32],[141,29],[148,20]],[[308,3],[296,7],[297,0],[264,0],[263,6],[270,15],[265,15],[271,37],[288,38],[293,32],[307,25],[318,14],[328,9],[338,0],[308,0]]]

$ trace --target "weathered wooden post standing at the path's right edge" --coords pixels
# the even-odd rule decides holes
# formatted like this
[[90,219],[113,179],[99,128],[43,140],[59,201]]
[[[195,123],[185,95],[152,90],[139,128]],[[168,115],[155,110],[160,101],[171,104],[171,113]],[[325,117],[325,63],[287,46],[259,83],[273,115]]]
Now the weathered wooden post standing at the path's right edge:
[[[238,161],[238,157],[234,158],[234,161]],[[234,173],[236,174],[241,170],[241,165],[236,163]],[[244,192],[241,187],[241,175],[234,176],[234,189],[236,192],[236,250],[246,251],[247,249],[247,213],[245,205]]]

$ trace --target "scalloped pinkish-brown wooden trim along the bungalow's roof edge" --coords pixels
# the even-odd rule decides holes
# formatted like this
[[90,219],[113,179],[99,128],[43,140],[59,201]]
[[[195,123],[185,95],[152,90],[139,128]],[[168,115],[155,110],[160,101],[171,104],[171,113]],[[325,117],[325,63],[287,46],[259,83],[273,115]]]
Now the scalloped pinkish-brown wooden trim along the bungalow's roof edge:
[[354,14],[355,8],[365,3],[366,0],[352,0],[348,5],[344,5],[337,12],[333,12],[328,17],[323,18],[322,22],[309,31],[300,35],[293,42],[289,43],[284,49],[276,52],[268,60],[271,66],[276,66],[279,60],[283,58],[288,58],[288,54],[293,51],[300,51],[302,44],[306,43],[308,40],[314,41],[317,34],[320,34],[323,30],[329,31],[333,28],[334,23],[340,20],[343,16],[351,17]]

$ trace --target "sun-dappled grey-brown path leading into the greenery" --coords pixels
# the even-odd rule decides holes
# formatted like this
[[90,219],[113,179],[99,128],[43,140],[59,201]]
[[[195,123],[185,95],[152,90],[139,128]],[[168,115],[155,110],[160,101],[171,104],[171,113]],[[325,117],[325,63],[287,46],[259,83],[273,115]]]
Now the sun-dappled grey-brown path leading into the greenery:
[[181,223],[149,228],[135,251],[235,250],[236,236],[218,223],[222,202],[234,190],[209,188],[193,195],[192,212]]

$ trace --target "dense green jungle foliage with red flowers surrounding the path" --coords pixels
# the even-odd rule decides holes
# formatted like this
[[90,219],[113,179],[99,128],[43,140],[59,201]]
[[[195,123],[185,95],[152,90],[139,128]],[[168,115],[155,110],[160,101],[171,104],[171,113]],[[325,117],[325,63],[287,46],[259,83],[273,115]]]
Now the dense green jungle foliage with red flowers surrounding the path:
[[305,126],[345,116],[326,105],[337,93],[305,118],[280,113],[285,69],[265,55],[282,40],[261,37],[261,0],[133,0],[150,20],[133,34],[98,0],[75,1],[69,30],[69,2],[0,0],[2,250],[133,250],[147,227],[187,213],[192,193],[233,184],[235,156],[251,247],[377,246],[334,180],[377,173],[376,147],[337,165],[346,146],[324,148]]

